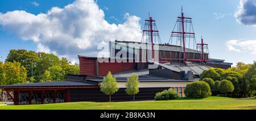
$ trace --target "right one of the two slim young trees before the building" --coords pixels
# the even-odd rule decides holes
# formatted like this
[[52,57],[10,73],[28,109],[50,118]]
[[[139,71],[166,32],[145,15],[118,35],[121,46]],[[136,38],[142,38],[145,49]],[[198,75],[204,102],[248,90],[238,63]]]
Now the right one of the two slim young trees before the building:
[[135,94],[139,93],[139,77],[133,73],[127,78],[126,93],[133,95],[133,101],[135,101]]

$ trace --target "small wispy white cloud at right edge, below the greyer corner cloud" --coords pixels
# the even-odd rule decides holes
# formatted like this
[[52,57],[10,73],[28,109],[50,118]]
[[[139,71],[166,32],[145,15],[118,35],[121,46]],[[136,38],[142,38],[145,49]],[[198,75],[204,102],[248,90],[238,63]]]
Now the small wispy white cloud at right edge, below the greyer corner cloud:
[[256,40],[229,40],[226,41],[228,51],[249,52],[256,55]]

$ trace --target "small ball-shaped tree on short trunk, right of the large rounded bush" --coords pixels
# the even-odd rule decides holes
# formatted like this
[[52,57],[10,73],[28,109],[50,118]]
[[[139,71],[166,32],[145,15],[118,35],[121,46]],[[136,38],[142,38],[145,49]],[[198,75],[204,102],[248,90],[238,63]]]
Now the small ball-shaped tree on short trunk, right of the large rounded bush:
[[222,80],[220,85],[218,85],[218,90],[226,95],[226,93],[232,93],[234,91],[234,85],[228,80]]

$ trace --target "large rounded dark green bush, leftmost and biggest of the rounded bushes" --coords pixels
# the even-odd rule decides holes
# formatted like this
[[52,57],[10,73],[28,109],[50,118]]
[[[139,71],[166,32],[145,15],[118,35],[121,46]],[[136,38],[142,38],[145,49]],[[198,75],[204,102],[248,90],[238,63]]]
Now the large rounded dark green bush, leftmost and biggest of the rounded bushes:
[[194,81],[187,84],[184,93],[189,98],[206,98],[212,95],[209,84],[204,81]]

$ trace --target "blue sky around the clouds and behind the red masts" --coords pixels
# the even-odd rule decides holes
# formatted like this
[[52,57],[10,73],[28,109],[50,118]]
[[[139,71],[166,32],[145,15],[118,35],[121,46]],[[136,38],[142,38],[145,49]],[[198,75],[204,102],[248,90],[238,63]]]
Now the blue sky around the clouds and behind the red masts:
[[[34,15],[46,14],[52,7],[63,8],[73,2],[73,0],[0,0],[0,13],[5,14],[7,11],[23,10]],[[234,64],[238,61],[252,63],[253,60],[256,60],[256,53],[251,52],[256,52],[256,49],[246,48],[248,41],[255,43],[256,27],[254,24],[245,25],[243,22],[238,22],[234,16],[238,11],[240,0],[98,0],[95,2],[104,11],[105,20],[109,24],[125,23],[127,19],[124,18],[124,15],[129,13],[141,18],[139,24],[143,25],[143,20],[147,18],[148,12],[150,12],[156,20],[161,40],[164,43],[168,42],[176,17],[180,15],[180,9],[183,6],[184,14],[193,18],[197,42],[200,41],[200,37],[203,35],[205,42],[209,44],[210,57],[225,59],[227,62],[233,62]],[[245,45],[241,46],[241,44]],[[45,44],[45,46],[47,45],[49,44]],[[228,49],[228,45],[233,48]],[[51,46],[55,45],[51,44]],[[20,37],[15,31],[3,26],[0,19],[0,56],[3,56],[3,60],[6,59],[10,49],[38,51],[38,43],[31,39]],[[65,50],[65,52],[67,51],[69,50]],[[59,54],[59,50],[55,52]],[[63,53],[60,55],[63,55]]]

